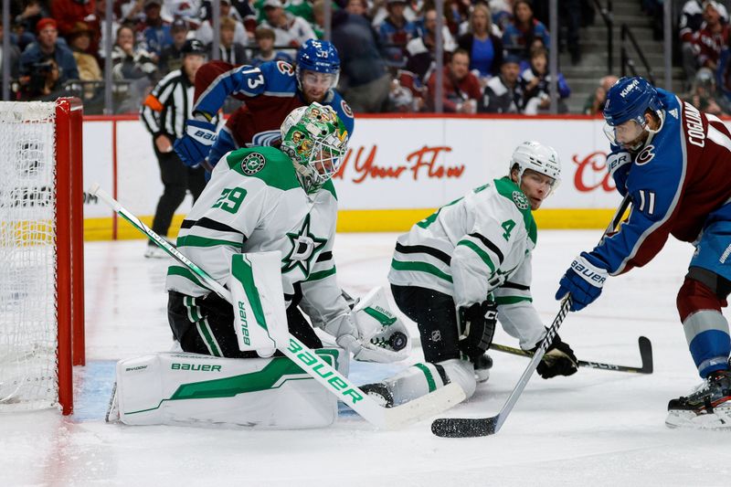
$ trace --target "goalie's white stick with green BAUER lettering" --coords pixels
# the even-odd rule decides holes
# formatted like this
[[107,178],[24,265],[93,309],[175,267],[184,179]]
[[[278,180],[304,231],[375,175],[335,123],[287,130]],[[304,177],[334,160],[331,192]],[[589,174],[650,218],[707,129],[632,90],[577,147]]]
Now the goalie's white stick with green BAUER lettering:
[[[98,184],[90,187],[89,194],[99,198],[111,206],[120,217],[127,220],[132,227],[137,228],[150,238],[158,247],[164,249],[173,259],[185,265],[196,274],[196,277],[205,286],[217,293],[218,296],[231,302],[231,293],[218,281],[213,279],[206,270],[199,268],[194,262],[186,258],[170,242],[157,235],[139,218],[122,207],[117,200],[102,190]],[[342,400],[346,406],[355,410],[361,417],[380,429],[397,429],[415,423],[451,408],[464,400],[464,392],[456,383],[441,387],[426,396],[418,397],[396,408],[383,408],[369,397],[358,386],[337,372],[333,366],[316,355],[311,348],[302,344],[296,337],[289,335],[288,344],[277,344],[282,354],[299,365],[309,376],[324,386],[335,397]]]

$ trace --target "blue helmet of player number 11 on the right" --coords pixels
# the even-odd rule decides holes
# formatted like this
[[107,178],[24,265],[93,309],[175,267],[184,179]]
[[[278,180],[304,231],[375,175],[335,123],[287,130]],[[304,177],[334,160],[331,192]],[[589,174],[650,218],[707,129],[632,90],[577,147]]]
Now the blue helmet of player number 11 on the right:
[[633,120],[644,125],[645,111],[662,110],[657,90],[645,79],[635,76],[620,78],[609,88],[604,104],[604,120],[610,127]]

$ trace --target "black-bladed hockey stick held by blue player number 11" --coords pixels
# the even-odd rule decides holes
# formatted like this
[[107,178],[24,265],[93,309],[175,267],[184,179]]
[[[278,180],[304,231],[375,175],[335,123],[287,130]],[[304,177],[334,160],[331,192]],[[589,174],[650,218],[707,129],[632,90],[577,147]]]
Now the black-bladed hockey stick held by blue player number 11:
[[[620,207],[617,208],[609,226],[604,230],[601,238],[599,238],[599,242],[601,242],[609,233],[614,231],[614,228],[620,224],[620,220],[624,216],[624,212],[627,210],[628,206],[630,206],[629,195],[625,196],[622,200]],[[546,337],[543,339],[541,344],[538,345],[530,364],[528,364],[525,368],[525,371],[518,379],[518,383],[515,385],[513,392],[510,393],[510,396],[508,396],[505,401],[503,408],[500,409],[500,412],[496,416],[490,418],[438,418],[431,423],[431,432],[443,438],[478,437],[497,433],[500,427],[503,426],[505,418],[507,418],[510,411],[513,410],[518,397],[520,397],[523,393],[525,386],[528,384],[531,376],[533,376],[533,373],[538,367],[540,361],[543,359],[543,356],[546,355],[546,350],[554,341],[554,337],[558,332],[558,327],[561,326],[564,318],[566,318],[570,306],[571,295],[567,294],[563,301],[561,301],[558,314],[556,314],[556,318],[554,318],[554,323],[551,323],[551,326],[548,328]]]

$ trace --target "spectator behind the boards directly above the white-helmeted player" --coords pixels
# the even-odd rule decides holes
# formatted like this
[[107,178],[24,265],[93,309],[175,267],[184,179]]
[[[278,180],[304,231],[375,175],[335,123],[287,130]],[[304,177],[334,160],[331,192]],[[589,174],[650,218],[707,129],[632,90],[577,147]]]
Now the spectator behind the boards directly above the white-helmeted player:
[[549,98],[550,83],[557,83],[558,112],[568,111],[566,102],[571,90],[568,88],[564,75],[558,73],[556,81],[548,72],[548,53],[545,49],[535,49],[531,55],[531,67],[520,74],[520,86],[523,90],[523,112],[525,115],[535,115],[539,111],[546,111],[551,105]]

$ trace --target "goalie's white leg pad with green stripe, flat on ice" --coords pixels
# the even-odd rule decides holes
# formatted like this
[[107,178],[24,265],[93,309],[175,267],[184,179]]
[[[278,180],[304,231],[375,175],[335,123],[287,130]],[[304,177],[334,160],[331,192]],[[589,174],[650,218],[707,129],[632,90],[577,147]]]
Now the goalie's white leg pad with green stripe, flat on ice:
[[[316,353],[347,375],[339,349]],[[144,355],[117,364],[117,407],[128,425],[330,426],[337,399],[288,358]]]

